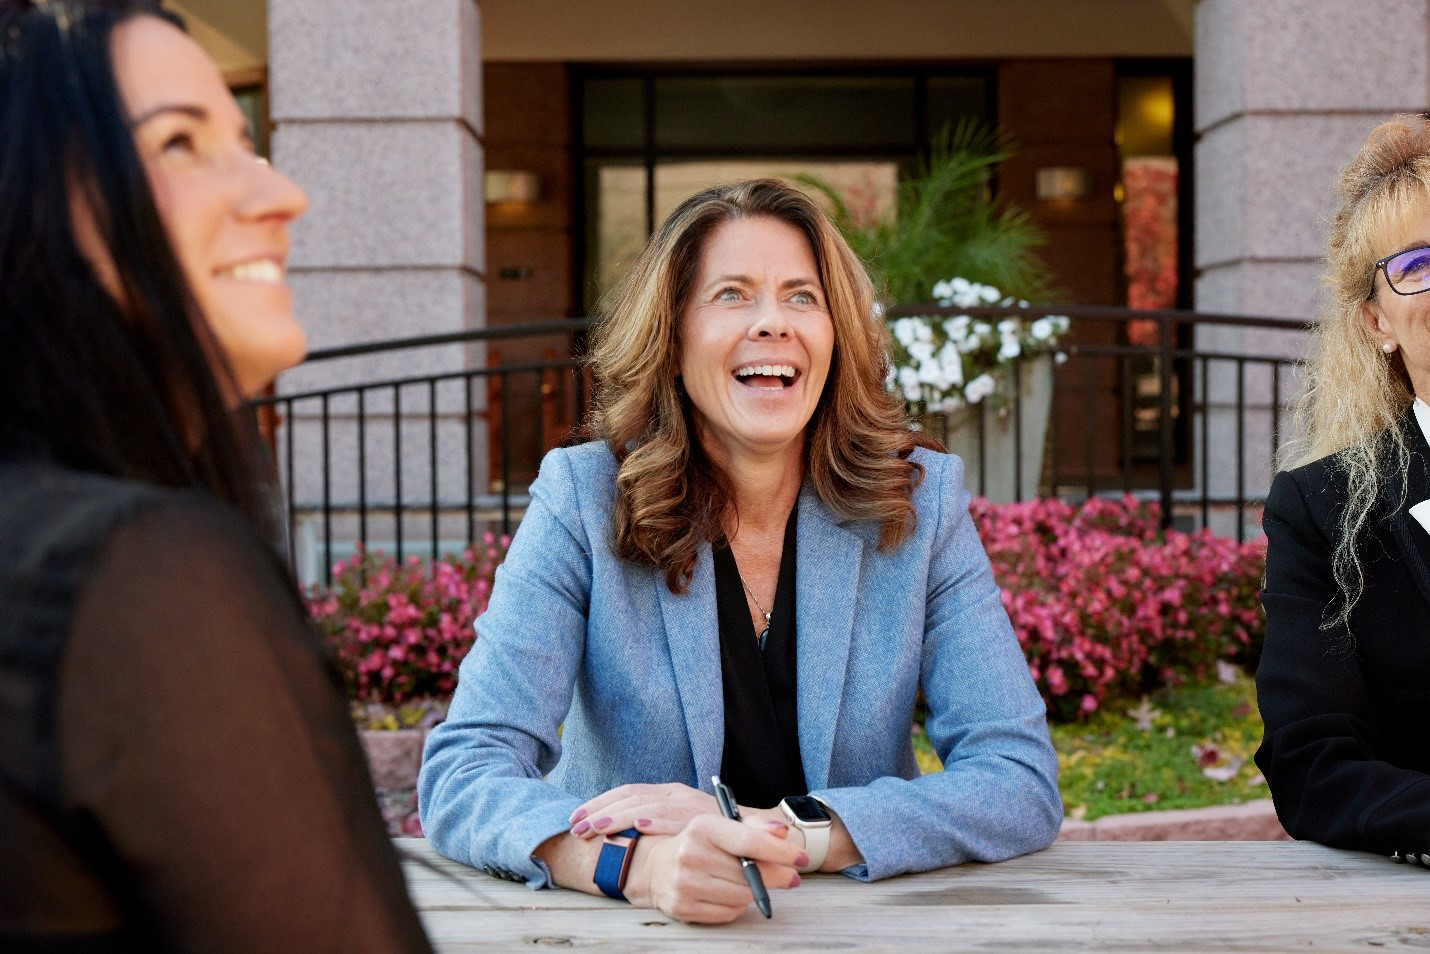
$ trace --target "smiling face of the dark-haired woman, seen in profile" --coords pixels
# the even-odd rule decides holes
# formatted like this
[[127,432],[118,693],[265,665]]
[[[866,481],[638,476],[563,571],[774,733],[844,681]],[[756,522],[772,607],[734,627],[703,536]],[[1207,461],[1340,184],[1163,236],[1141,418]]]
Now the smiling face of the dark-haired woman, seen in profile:
[[307,196],[253,154],[243,112],[182,30],[134,17],[114,30],[113,57],[169,242],[229,360],[236,398],[252,398],[306,350],[285,276],[289,223]]

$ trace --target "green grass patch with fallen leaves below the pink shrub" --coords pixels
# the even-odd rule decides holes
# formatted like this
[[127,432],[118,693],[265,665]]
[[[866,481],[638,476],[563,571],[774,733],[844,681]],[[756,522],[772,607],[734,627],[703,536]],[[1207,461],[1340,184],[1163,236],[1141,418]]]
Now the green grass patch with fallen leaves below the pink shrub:
[[[1244,674],[1233,682],[1163,689],[1138,705],[1052,727],[1064,810],[1087,821],[1267,798],[1251,762],[1260,742],[1256,685]],[[925,772],[940,771],[919,727],[914,754]]]

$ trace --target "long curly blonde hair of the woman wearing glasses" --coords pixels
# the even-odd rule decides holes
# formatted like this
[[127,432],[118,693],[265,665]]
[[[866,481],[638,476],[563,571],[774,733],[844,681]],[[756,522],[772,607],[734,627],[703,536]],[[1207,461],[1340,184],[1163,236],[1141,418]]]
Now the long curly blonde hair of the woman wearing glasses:
[[1337,195],[1323,276],[1330,300],[1311,335],[1300,436],[1281,452],[1286,466],[1334,455],[1346,475],[1331,556],[1340,602],[1327,629],[1347,626],[1364,592],[1358,542],[1376,501],[1399,492],[1404,502],[1410,452],[1399,422],[1416,395],[1400,350],[1386,355],[1371,335],[1369,309],[1376,262],[1419,240],[1430,212],[1430,119],[1397,116],[1373,129],[1341,170]]

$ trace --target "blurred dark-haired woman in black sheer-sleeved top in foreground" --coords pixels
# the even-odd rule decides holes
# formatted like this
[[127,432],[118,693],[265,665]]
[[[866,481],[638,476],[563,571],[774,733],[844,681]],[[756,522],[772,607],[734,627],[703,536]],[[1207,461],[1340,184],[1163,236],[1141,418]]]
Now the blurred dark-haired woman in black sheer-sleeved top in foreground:
[[429,950],[233,410],[305,206],[153,4],[0,6],[3,950]]

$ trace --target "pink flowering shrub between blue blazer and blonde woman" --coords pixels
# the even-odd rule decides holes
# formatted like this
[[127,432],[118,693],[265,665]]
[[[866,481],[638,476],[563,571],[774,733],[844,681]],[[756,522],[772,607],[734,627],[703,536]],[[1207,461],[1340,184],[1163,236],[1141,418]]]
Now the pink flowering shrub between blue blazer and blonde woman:
[[1264,541],[1163,535],[1158,508],[1133,498],[975,499],[972,516],[1052,718],[1211,678],[1218,659],[1254,664]]

